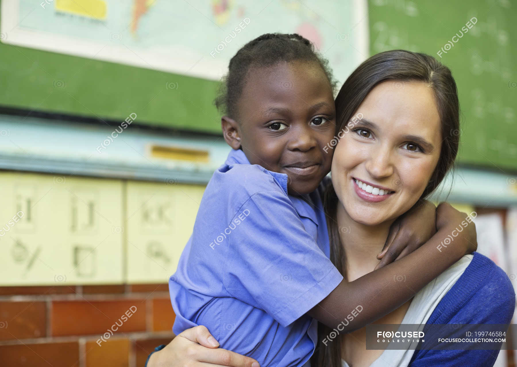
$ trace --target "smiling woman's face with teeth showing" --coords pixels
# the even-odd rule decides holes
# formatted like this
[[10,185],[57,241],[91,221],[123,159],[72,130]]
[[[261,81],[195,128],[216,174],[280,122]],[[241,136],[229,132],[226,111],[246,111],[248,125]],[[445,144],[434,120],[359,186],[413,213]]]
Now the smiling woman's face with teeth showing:
[[332,184],[348,215],[365,225],[394,220],[422,195],[442,148],[433,90],[422,82],[373,88],[340,133]]

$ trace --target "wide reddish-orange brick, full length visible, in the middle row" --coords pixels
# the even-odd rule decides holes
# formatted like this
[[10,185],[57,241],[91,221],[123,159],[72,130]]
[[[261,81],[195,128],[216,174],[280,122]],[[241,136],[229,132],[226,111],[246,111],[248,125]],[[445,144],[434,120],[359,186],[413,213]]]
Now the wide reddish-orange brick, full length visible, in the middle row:
[[116,322],[122,325],[115,325],[114,329],[118,330],[113,333],[119,333],[120,336],[124,332],[145,331],[145,314],[143,299],[54,301],[51,313],[52,336],[103,334]]

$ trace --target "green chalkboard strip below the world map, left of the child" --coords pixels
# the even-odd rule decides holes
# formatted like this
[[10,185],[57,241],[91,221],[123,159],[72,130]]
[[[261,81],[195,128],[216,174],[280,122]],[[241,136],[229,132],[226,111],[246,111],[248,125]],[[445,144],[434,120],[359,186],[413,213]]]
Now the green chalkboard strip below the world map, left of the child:
[[[8,38],[2,34],[0,40]],[[0,106],[219,133],[217,82],[0,42]]]

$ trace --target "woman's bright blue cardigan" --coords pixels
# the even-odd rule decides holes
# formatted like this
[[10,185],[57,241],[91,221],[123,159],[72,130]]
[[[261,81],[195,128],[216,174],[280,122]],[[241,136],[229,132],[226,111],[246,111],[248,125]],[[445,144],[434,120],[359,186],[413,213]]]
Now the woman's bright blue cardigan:
[[[474,252],[472,261],[440,300],[427,324],[509,324],[514,310],[515,292],[506,273],[489,258]],[[499,350],[415,350],[409,366],[491,367],[498,354]]]

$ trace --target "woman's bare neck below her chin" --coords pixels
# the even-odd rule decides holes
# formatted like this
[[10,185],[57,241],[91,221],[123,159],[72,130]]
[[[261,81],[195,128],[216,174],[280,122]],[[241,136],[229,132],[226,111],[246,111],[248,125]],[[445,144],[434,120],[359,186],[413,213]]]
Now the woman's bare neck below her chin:
[[353,281],[377,266],[377,254],[382,251],[394,220],[376,226],[363,225],[353,220],[341,203],[338,203],[336,219],[345,252],[347,280]]

